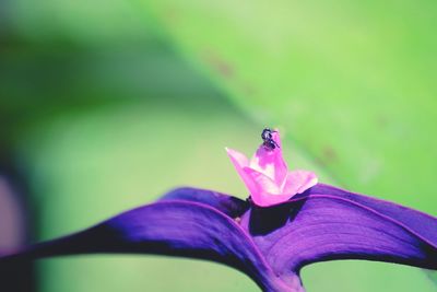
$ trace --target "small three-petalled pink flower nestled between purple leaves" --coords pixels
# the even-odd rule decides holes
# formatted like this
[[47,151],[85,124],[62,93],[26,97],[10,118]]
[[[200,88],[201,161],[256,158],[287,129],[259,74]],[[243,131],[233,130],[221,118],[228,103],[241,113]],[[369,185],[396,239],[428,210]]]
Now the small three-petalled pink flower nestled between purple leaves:
[[273,132],[272,138],[279,147],[270,150],[261,144],[250,162],[238,151],[226,148],[231,161],[250,191],[252,201],[261,207],[286,201],[318,182],[316,174],[311,172],[288,172],[282,157],[279,131]]

